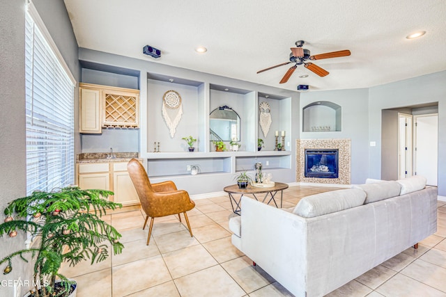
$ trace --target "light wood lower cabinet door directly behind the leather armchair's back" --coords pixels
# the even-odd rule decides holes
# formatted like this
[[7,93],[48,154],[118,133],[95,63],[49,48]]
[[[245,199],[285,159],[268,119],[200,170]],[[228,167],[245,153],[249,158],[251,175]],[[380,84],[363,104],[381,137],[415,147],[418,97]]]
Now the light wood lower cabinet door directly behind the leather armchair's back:
[[123,205],[139,204],[137,190],[134,188],[128,172],[114,172],[113,177],[114,202]]

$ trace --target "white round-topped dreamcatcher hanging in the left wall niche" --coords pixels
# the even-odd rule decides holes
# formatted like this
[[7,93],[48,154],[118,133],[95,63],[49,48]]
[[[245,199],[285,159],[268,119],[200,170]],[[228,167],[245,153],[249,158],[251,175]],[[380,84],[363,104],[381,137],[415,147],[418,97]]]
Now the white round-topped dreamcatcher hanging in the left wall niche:
[[174,90],[168,90],[162,96],[162,118],[169,128],[171,138],[174,138],[176,126],[183,115],[183,106],[181,106],[181,96]]

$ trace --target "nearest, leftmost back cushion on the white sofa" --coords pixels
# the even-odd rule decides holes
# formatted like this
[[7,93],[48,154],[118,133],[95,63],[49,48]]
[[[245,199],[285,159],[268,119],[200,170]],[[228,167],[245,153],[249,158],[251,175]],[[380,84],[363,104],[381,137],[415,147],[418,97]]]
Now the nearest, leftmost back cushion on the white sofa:
[[330,191],[302,198],[293,214],[304,218],[314,218],[324,214],[357,207],[364,204],[365,193],[360,188]]

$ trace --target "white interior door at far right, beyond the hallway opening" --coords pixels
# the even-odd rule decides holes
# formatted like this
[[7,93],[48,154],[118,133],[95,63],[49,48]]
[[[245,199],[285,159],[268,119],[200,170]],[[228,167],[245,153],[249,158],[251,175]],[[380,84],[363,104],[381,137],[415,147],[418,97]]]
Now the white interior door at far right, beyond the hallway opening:
[[426,177],[427,184],[438,185],[438,113],[414,115],[415,175]]

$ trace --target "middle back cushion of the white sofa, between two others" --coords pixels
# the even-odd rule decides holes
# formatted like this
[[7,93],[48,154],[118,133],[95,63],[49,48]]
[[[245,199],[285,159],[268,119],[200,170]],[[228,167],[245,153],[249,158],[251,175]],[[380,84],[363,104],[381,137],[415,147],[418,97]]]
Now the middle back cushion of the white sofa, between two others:
[[361,188],[367,194],[364,204],[398,196],[401,191],[401,185],[395,181],[355,184],[353,188]]

